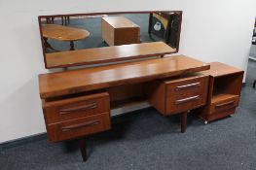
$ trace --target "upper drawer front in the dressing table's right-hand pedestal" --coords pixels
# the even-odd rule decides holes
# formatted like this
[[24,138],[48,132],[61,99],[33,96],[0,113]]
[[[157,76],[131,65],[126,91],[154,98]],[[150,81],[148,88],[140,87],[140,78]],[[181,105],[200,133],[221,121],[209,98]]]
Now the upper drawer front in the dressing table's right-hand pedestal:
[[204,88],[207,88],[208,77],[200,77],[190,80],[184,80],[180,82],[169,83],[167,85],[167,96],[171,95],[183,95],[192,92],[200,92]]

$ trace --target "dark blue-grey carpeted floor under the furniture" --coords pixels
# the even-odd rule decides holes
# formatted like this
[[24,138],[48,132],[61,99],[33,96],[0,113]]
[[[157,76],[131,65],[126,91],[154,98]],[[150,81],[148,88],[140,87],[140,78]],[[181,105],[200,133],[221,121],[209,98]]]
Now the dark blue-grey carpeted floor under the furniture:
[[87,162],[75,142],[50,144],[44,136],[1,151],[0,169],[255,169],[255,71],[256,62],[250,61],[234,117],[204,125],[191,115],[182,134],[179,117],[164,118],[148,108],[114,118],[112,130],[90,137]]

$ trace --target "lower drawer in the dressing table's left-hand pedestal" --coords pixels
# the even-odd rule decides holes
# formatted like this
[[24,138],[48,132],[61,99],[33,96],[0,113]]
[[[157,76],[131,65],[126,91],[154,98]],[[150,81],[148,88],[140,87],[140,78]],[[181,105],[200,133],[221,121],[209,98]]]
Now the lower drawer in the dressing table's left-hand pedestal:
[[47,126],[48,137],[52,142],[79,138],[108,129],[110,129],[109,113],[62,121]]

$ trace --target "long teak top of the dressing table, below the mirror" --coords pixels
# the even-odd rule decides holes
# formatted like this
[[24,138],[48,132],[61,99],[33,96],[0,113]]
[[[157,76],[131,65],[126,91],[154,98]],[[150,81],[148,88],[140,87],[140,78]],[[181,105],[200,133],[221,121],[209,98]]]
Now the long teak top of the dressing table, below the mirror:
[[40,97],[44,99],[115,85],[142,83],[207,69],[209,65],[206,63],[178,55],[41,74],[39,75]]

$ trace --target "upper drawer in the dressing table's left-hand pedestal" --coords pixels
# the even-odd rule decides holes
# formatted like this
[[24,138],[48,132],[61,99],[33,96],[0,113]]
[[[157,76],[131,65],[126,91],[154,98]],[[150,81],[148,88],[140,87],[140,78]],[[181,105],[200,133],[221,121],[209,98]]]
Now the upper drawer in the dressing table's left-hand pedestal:
[[47,124],[51,124],[68,119],[78,119],[109,112],[109,105],[108,93],[102,92],[46,102],[43,105],[43,110]]

